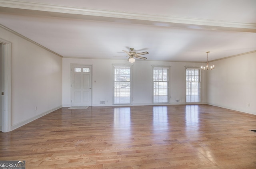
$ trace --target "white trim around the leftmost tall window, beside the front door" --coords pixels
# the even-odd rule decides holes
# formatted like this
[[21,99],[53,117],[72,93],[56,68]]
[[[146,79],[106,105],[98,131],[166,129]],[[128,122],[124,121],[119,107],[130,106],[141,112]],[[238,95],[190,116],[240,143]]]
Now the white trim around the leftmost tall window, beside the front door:
[[[115,67],[130,67],[131,68],[131,72],[130,72],[130,103],[127,103],[127,104],[117,104],[117,103],[114,103],[114,92],[115,92],[115,89],[114,89],[114,76],[115,76]],[[112,64],[112,98],[113,98],[113,105],[119,105],[119,106],[122,106],[122,105],[132,105],[132,100],[133,100],[133,96],[132,96],[132,86],[133,86],[133,80],[132,80],[132,77],[133,77],[133,64]]]

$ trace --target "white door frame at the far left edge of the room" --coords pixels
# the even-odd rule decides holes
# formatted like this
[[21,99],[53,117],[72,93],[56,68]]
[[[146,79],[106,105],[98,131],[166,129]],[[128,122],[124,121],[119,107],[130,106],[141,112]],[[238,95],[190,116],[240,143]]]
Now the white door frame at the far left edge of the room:
[[12,43],[0,38],[2,44],[2,132],[11,131],[11,51]]

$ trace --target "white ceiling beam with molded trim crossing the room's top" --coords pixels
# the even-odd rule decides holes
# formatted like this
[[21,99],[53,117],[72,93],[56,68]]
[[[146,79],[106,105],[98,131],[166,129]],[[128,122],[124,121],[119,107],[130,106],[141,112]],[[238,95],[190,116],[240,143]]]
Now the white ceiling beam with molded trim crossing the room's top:
[[132,24],[148,24],[155,26],[180,27],[190,29],[256,32],[256,24],[250,23],[238,23],[198,18],[184,18],[154,14],[129,13],[113,10],[99,10],[93,8],[78,8],[70,6],[60,6],[55,4],[23,2],[17,0],[0,0],[0,8],[2,12],[11,13],[21,12],[23,14],[26,14],[29,13],[26,12],[27,10],[32,10],[34,14],[36,13],[38,15],[48,14],[50,16],[67,18],[78,18],[88,20],[96,19],[110,22],[129,22]]

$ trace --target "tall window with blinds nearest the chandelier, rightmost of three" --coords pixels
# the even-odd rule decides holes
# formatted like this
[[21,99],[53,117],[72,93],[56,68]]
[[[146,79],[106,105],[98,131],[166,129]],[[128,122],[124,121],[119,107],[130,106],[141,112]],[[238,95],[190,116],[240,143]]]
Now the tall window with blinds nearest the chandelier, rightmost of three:
[[186,102],[201,102],[201,70],[186,67]]

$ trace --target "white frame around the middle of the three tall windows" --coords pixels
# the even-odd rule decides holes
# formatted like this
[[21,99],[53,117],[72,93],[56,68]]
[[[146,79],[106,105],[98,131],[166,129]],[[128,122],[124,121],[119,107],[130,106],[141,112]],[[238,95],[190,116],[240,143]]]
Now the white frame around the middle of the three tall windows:
[[[170,65],[152,65],[152,104],[169,104],[170,103]],[[167,69],[167,101],[154,102],[154,68]],[[158,81],[159,82],[159,81]],[[159,95],[158,95],[159,96]]]

